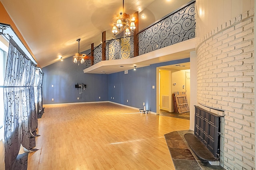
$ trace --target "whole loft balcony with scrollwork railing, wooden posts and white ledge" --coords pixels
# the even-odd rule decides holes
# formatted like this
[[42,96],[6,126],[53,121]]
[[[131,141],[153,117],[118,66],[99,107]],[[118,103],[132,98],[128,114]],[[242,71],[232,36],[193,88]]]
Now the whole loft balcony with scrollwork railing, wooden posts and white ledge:
[[84,73],[111,74],[189,58],[196,45],[194,6],[192,0],[133,36],[103,41],[88,54]]

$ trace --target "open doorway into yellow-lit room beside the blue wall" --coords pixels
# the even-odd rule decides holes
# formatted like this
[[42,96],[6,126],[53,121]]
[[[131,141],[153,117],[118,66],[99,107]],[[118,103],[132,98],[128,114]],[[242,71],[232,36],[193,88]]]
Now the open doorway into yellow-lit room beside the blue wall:
[[190,106],[190,63],[180,63],[156,68],[157,71],[157,114],[190,119],[190,113],[178,113],[173,103],[175,92],[186,93]]

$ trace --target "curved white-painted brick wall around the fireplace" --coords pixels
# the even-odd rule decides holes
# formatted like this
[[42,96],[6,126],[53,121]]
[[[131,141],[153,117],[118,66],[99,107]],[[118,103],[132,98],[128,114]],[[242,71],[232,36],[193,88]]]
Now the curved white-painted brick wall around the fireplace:
[[224,168],[255,169],[254,9],[199,39],[196,53],[198,104],[225,114]]

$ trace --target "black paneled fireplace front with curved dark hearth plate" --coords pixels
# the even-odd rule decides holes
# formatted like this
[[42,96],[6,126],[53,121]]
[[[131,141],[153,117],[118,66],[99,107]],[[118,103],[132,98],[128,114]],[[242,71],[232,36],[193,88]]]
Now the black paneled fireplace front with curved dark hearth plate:
[[224,116],[195,106],[194,134],[186,134],[185,138],[191,149],[202,160],[216,162],[220,159],[222,117]]

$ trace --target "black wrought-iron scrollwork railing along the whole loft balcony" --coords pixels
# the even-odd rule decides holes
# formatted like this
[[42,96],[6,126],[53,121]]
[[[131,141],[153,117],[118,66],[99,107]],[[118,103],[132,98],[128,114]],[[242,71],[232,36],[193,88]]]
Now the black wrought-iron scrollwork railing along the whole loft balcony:
[[[196,29],[195,3],[195,0],[190,1],[163,19],[156,21],[150,27],[140,31],[136,36],[104,41],[106,58],[102,57],[102,44],[100,44],[93,50],[93,64],[99,63],[102,59],[116,60],[136,57],[134,56],[134,37],[137,38],[138,42],[135,44],[138,55],[194,38]],[[90,66],[91,61],[86,61],[86,68]]]

